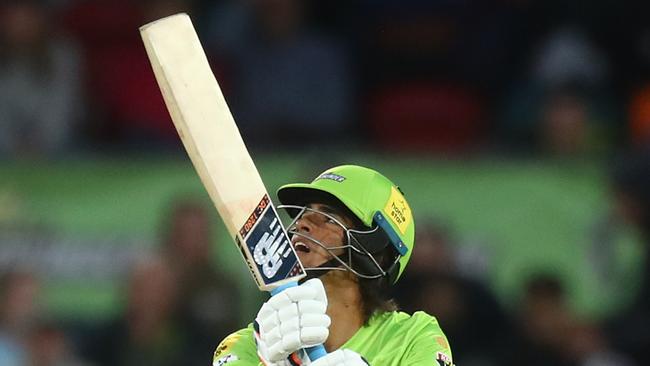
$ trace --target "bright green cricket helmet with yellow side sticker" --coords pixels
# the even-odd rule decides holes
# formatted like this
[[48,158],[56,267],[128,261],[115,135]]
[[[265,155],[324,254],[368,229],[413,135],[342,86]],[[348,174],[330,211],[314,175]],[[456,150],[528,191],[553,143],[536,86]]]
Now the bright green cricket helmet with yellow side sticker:
[[[361,228],[347,230],[352,238],[349,244],[357,250],[352,252],[352,268],[346,267],[357,275],[388,277],[392,284],[404,271],[414,245],[413,214],[399,187],[380,173],[357,165],[337,166],[311,183],[280,187],[278,199],[294,207],[331,203],[361,223]],[[289,210],[289,214],[295,216],[297,212]],[[392,260],[380,264],[378,255],[387,252]]]

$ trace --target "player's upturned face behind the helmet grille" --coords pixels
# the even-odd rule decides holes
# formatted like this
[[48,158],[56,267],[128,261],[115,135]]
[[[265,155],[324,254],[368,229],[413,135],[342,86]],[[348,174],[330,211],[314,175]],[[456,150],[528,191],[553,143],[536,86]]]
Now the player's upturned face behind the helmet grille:
[[[351,220],[332,207],[324,204],[309,204],[307,207],[314,211],[324,212],[334,217],[346,227],[350,227]],[[302,235],[294,235],[291,242],[305,268],[318,267],[333,258],[334,255],[343,254],[343,245],[347,244],[345,229],[330,217],[311,210],[305,211],[296,221],[294,230],[318,240],[330,251]],[[339,247],[339,248],[337,248]]]

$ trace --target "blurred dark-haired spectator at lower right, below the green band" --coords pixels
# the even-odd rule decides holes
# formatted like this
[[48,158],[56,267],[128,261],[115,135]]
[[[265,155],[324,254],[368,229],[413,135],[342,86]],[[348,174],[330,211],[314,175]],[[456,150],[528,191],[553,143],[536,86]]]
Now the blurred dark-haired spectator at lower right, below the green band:
[[526,282],[505,361],[513,366],[633,365],[608,348],[596,326],[577,319],[566,303],[563,284],[549,274],[536,274]]

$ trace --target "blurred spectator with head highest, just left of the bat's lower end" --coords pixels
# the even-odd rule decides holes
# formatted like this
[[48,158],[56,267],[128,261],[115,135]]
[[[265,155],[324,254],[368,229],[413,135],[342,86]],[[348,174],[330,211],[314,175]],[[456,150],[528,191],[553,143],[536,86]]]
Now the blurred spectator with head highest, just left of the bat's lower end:
[[239,322],[241,298],[236,283],[212,261],[213,225],[207,208],[190,199],[174,202],[164,238],[164,253],[177,273],[179,321],[190,342],[184,364],[203,365],[211,359],[216,343]]

